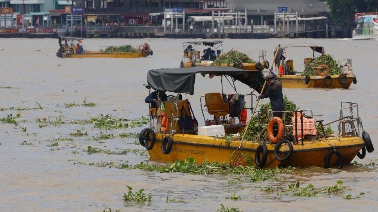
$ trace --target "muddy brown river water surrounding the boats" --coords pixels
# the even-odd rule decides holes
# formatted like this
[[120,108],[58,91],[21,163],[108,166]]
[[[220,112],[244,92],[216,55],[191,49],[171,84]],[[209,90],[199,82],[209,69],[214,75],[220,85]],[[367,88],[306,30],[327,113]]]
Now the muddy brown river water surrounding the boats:
[[[70,124],[70,120],[85,120],[100,114],[137,119],[147,114],[144,98],[148,90],[142,84],[147,81],[147,71],[157,68],[175,68],[182,59],[184,40],[169,39],[85,39],[84,49],[98,50],[101,46],[148,42],[154,51],[149,58],[137,59],[61,59],[55,56],[57,39],[0,39],[0,118],[17,113],[16,119],[26,132],[13,124],[0,124],[0,211],[103,211],[105,207],[121,211],[216,211],[225,207],[237,207],[242,211],[376,211],[378,207],[378,174],[375,167],[346,165],[342,170],[303,168],[295,174],[278,174],[279,180],[261,182],[249,180],[228,183],[233,176],[193,175],[183,173],[159,173],[157,171],[125,170],[90,166],[83,163],[125,162],[138,164],[149,156],[139,154],[145,150],[134,144],[134,138],[88,140],[100,135],[93,124]],[[353,59],[357,84],[343,89],[284,89],[289,100],[302,109],[312,109],[323,114],[325,122],[339,117],[341,101],[359,103],[360,117],[365,130],[375,144],[378,139],[378,71],[376,55],[378,42],[336,39],[226,39],[224,49],[235,48],[259,58],[259,50],[267,50],[268,60],[273,58],[278,44],[311,42],[325,47],[335,59]],[[103,48],[103,47],[102,47]],[[310,49],[291,52],[294,68],[303,69],[302,58],[311,57]],[[298,59],[296,59],[298,58]],[[300,58],[300,60],[299,60]],[[237,84],[240,93],[250,88]],[[199,97],[205,92],[219,92],[218,79],[197,76],[195,94],[184,95],[191,99],[200,125]],[[226,92],[233,93],[230,87]],[[65,103],[96,103],[95,107],[66,107]],[[38,108],[38,102],[42,109]],[[263,103],[268,100],[264,99]],[[12,110],[31,108],[31,110]],[[11,109],[10,109],[11,108]],[[39,127],[36,120],[49,118],[67,124]],[[140,132],[144,126],[109,130],[108,133]],[[83,137],[69,134],[83,129]],[[333,129],[337,128],[333,125]],[[51,140],[59,141],[51,146]],[[23,143],[24,145],[21,145]],[[27,143],[27,144],[25,144]],[[31,143],[31,144],[30,144]],[[50,145],[50,146],[47,146]],[[88,146],[110,151],[140,150],[127,154],[87,154]],[[358,163],[377,162],[378,153],[367,153]],[[294,197],[266,194],[260,187],[285,186],[300,180],[304,186],[331,186],[343,180],[347,190],[343,193],[318,197]],[[145,204],[125,203],[125,185],[133,191],[144,188],[152,193],[152,201]],[[364,195],[359,195],[361,192]],[[349,193],[356,199],[346,200]],[[233,194],[240,200],[226,199]],[[166,197],[184,202],[166,203]]]

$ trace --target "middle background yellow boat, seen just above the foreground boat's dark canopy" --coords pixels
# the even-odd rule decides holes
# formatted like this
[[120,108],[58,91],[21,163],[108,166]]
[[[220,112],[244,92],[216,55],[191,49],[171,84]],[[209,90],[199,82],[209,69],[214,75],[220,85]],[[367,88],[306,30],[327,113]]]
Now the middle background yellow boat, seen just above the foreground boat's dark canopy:
[[[223,54],[223,41],[188,41],[182,43],[183,57],[180,63],[181,68],[189,68],[194,66],[211,66],[214,60]],[[192,46],[193,45],[193,46]],[[201,52],[197,49],[203,45],[205,49]],[[260,60],[262,60],[260,62]],[[269,62],[266,61],[266,52],[260,51],[259,62],[255,63],[233,63],[220,64],[220,66],[231,66],[243,70],[259,70],[262,71],[269,67]]]

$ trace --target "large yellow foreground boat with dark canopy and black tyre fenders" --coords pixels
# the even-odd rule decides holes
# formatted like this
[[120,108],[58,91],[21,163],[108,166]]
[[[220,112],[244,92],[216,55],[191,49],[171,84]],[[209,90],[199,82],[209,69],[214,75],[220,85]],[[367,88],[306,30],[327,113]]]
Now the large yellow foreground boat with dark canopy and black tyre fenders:
[[[261,92],[264,83],[260,71],[240,70],[231,67],[208,66],[184,70],[158,69],[148,71],[148,85],[145,86],[150,89],[150,92],[153,89],[178,93],[177,96],[168,96],[167,101],[158,101],[160,107],[156,114],[150,114],[150,128],[143,129],[139,135],[140,144],[149,150],[150,160],[167,162],[193,157],[197,163],[208,160],[210,162],[230,163],[231,165],[250,164],[262,168],[282,166],[319,166],[325,168],[337,166],[342,168],[344,164],[350,163],[356,155],[360,158],[365,157],[366,149],[368,152],[374,151],[368,133],[363,130],[362,121],[358,114],[358,104],[351,102],[342,102],[339,119],[330,122],[338,122],[339,132],[337,135],[326,134],[323,128],[323,120],[314,120],[311,110],[285,111],[284,117],[289,116],[289,114],[291,116],[294,116],[293,114],[298,115],[295,122],[294,118],[291,123],[283,121],[285,128],[289,129],[292,126],[290,132],[293,132],[293,136],[290,134],[290,139],[282,138],[276,144],[274,142],[260,144],[262,140],[241,142],[240,137],[237,138],[235,133],[240,133],[246,125],[241,122],[240,118],[235,121],[234,118],[227,117],[231,113],[230,108],[232,108],[232,105],[230,106],[230,103],[225,102],[222,98],[222,96],[227,95],[224,93],[206,93],[200,98],[200,104],[204,123],[207,125],[197,127],[196,123],[198,122],[194,121],[195,116],[190,108],[189,100],[181,99],[182,95],[180,95],[180,93],[193,95],[196,73],[232,78],[232,80],[227,81],[240,81],[255,88],[257,92]],[[241,99],[240,96],[239,100]],[[252,98],[255,95],[250,93],[242,96],[250,96],[251,102],[253,102]],[[205,104],[202,102],[203,99],[205,99]],[[249,109],[252,108],[253,106]],[[204,111],[207,111],[208,115],[214,116],[214,120],[206,120]],[[259,111],[256,116],[262,116],[263,113],[271,114],[272,112]],[[182,123],[187,123],[185,117],[194,124],[191,126],[188,122],[189,127],[182,125]],[[237,123],[237,120],[239,123]],[[319,123],[322,130],[315,130],[314,135],[309,135],[306,133],[308,129],[306,130],[306,127],[304,127],[308,123]],[[165,132],[162,132],[162,125],[167,126]],[[259,132],[262,132],[260,127],[263,129],[267,125],[267,123],[259,123]],[[268,128],[270,127],[268,126]],[[218,131],[218,129],[224,129],[224,131]],[[362,133],[360,130],[362,130]],[[214,135],[215,133],[217,135]],[[232,135],[235,137],[232,137],[230,133],[235,134]],[[227,134],[227,136],[223,137],[224,134]],[[259,139],[264,136],[267,135],[258,135]]]

